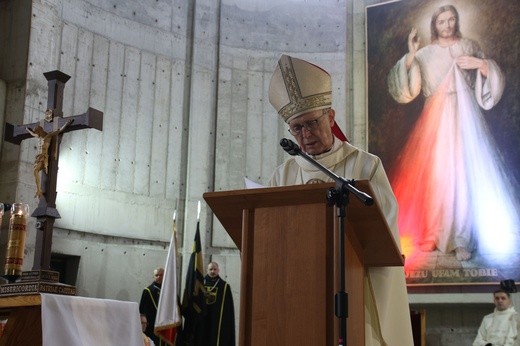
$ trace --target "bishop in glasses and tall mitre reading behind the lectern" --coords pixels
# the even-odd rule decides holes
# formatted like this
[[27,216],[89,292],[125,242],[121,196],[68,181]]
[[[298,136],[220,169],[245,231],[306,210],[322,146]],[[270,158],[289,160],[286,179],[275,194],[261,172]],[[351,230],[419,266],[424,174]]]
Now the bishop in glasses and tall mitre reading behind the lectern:
[[[346,179],[369,180],[396,244],[397,202],[381,160],[348,143],[336,126],[332,82],[322,68],[282,55],[271,77],[269,102],[302,151]],[[300,156],[280,165],[271,186],[332,182]],[[402,267],[369,268],[365,276],[365,345],[412,346],[408,296]]]

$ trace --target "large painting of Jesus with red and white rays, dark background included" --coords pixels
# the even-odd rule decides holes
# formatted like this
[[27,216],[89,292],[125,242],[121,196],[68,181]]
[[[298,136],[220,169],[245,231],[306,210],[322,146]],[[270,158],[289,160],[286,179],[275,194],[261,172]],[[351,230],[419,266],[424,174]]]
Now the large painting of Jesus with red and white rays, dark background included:
[[520,3],[366,8],[369,151],[408,285],[520,280]]

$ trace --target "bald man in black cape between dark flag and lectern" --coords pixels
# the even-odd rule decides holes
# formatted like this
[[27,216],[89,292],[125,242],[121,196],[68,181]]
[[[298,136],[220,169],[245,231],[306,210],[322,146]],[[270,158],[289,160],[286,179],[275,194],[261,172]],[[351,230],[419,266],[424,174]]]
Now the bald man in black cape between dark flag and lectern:
[[210,262],[204,277],[206,288],[205,320],[208,346],[235,346],[235,308],[231,287],[220,276],[218,263]]

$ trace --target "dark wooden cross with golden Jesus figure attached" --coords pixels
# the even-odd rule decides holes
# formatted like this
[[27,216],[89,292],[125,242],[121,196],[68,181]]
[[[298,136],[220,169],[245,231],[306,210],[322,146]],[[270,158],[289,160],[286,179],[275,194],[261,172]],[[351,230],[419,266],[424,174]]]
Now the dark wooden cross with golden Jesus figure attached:
[[[63,89],[70,76],[61,71],[43,74],[49,91],[45,117],[38,123],[26,125],[6,124],[5,140],[20,144],[24,139],[38,137],[40,152],[34,163],[38,207],[31,214],[36,218],[36,246],[33,270],[50,270],[52,230],[60,218],[56,209],[56,183],[58,179],[59,146],[63,133],[94,128],[103,130],[103,113],[88,108],[86,113],[63,117]],[[41,178],[41,179],[40,179]]]

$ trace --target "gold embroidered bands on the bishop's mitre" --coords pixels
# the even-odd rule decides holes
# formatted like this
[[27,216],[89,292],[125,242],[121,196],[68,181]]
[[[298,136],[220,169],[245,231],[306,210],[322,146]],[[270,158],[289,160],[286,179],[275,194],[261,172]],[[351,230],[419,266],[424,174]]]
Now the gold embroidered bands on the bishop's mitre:
[[330,91],[307,97],[302,96],[291,59],[288,59],[286,66],[283,65],[281,60],[279,65],[282,79],[285,83],[285,88],[287,89],[287,94],[291,100],[289,104],[285,105],[278,111],[278,114],[280,114],[284,121],[287,122],[287,119],[297,113],[302,113],[305,110],[330,106],[332,104],[332,93]]

